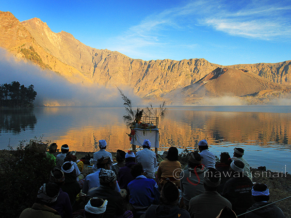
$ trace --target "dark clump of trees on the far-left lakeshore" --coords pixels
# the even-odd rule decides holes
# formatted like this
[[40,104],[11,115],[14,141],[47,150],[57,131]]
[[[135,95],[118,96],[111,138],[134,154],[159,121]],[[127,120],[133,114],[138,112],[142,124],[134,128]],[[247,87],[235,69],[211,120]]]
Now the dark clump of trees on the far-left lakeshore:
[[16,81],[10,84],[2,84],[0,86],[0,107],[33,107],[32,103],[36,94],[33,85],[25,87]]

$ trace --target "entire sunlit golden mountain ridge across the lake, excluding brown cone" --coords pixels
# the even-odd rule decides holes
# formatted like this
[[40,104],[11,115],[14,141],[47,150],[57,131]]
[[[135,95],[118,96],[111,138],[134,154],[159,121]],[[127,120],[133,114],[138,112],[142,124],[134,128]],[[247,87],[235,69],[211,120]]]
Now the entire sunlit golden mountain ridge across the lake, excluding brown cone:
[[[29,59],[29,55],[34,55],[36,58],[31,60],[36,64],[60,73],[71,82],[128,86],[137,95],[148,98],[193,85],[222,67],[204,59],[131,59],[117,51],[88,47],[65,31],[52,32],[38,18],[20,23],[10,12],[0,12],[0,46],[19,58]],[[291,61],[228,68],[244,69],[269,81],[288,85],[291,84],[290,66]]]

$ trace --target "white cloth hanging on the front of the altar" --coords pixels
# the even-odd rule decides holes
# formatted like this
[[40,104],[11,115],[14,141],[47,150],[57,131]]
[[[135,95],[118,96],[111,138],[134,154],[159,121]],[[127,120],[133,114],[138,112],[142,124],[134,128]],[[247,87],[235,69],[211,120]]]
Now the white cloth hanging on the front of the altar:
[[144,140],[151,143],[151,148],[159,148],[159,129],[138,129],[134,128],[135,134],[132,136],[130,144],[143,146]]

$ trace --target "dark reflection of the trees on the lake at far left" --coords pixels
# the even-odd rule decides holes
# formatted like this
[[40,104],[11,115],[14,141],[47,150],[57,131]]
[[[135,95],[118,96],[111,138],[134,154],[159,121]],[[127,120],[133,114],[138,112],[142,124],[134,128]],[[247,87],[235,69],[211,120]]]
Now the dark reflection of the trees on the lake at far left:
[[33,109],[0,109],[0,133],[33,130],[36,123]]

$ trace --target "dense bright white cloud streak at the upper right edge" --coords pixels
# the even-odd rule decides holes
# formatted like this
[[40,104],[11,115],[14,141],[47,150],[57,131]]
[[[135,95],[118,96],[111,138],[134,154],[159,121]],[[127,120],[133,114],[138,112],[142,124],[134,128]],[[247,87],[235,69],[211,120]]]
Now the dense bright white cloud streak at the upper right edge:
[[270,1],[251,1],[237,11],[224,8],[214,16],[201,19],[202,24],[230,35],[261,40],[291,38],[291,5]]

